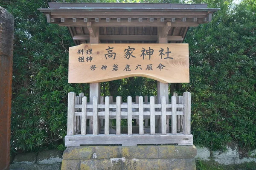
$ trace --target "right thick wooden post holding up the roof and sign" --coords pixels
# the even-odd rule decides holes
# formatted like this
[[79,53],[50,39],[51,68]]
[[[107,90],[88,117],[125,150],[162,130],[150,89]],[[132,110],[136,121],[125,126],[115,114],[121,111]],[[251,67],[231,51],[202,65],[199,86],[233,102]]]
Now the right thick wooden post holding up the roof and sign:
[[[170,23],[166,24],[165,27],[157,27],[157,43],[168,43],[168,32],[166,34],[166,27],[170,28]],[[163,83],[157,81],[157,104],[161,104],[161,97],[166,97],[166,103],[169,103],[169,83]],[[158,119],[156,124],[158,125],[158,133],[161,131],[161,119]],[[169,116],[166,116],[166,128],[169,133]]]

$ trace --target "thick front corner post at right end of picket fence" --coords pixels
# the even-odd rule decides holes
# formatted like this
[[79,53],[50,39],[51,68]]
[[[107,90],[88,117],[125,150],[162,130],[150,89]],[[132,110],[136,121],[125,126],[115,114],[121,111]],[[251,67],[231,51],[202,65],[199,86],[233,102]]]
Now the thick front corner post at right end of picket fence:
[[190,134],[190,127],[191,127],[191,94],[189,92],[183,93],[183,100],[184,100],[184,134]]

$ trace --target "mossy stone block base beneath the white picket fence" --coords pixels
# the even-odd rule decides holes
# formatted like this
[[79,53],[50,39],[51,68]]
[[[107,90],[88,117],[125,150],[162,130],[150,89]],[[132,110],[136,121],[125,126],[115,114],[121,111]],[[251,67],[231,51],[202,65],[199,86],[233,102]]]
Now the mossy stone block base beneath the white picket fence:
[[61,170],[195,170],[195,156],[195,146],[68,147]]

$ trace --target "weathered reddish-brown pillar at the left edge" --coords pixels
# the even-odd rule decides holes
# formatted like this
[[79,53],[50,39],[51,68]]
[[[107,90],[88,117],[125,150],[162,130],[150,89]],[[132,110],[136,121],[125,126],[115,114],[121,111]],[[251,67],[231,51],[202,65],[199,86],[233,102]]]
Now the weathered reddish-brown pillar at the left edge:
[[0,170],[9,170],[14,19],[0,6]]

